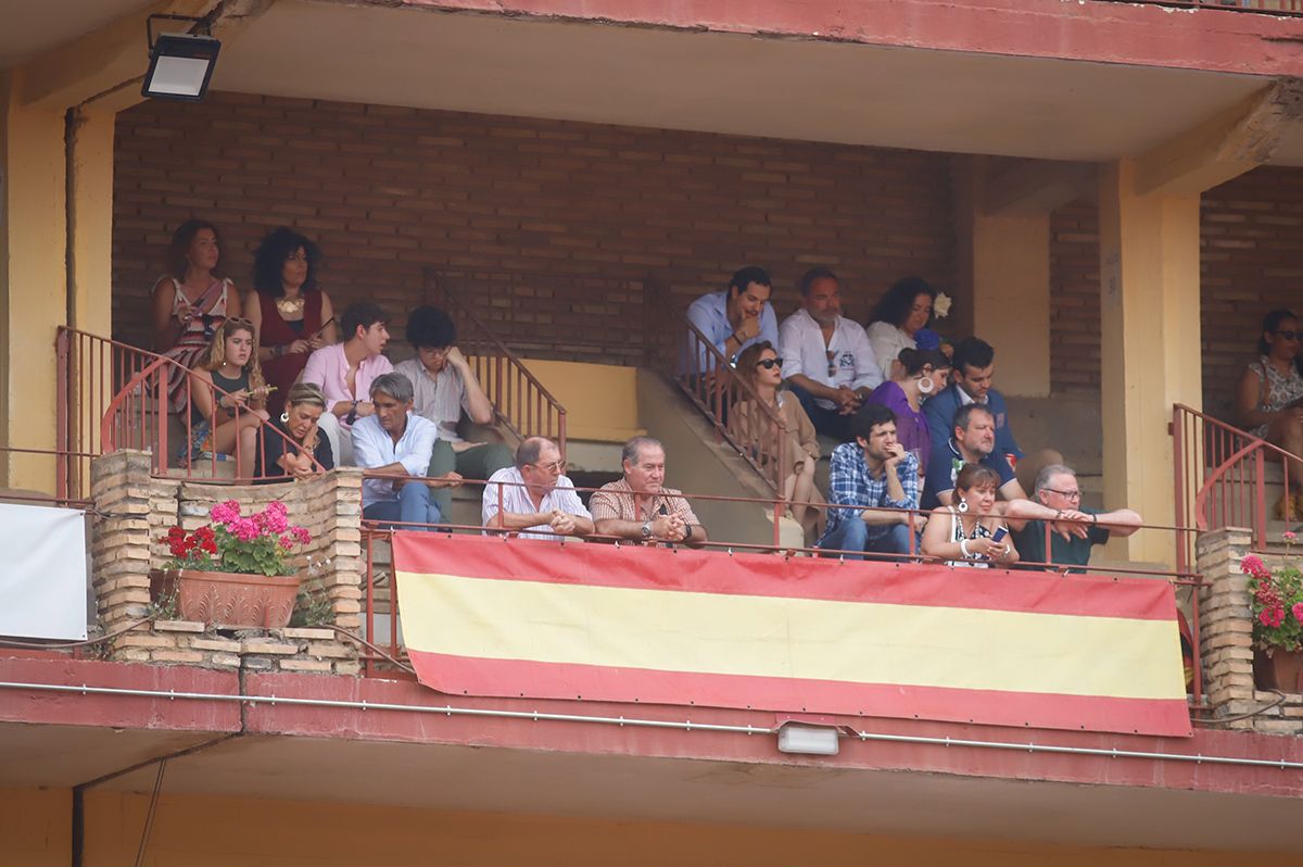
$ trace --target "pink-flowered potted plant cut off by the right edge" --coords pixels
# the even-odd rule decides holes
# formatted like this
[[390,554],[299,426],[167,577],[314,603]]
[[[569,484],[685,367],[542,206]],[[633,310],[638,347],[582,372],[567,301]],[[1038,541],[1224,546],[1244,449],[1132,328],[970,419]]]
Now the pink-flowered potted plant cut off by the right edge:
[[[1283,538],[1293,550],[1298,536]],[[1240,567],[1253,595],[1253,681],[1263,690],[1303,691],[1303,575],[1295,563],[1273,571],[1253,554]]]

